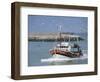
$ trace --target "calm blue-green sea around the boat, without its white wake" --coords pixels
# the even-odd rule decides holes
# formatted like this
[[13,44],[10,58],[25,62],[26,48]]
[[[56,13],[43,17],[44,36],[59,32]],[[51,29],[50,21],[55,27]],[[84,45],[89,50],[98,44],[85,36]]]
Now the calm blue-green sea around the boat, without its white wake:
[[[83,53],[87,54],[87,35],[79,34],[83,41],[78,41]],[[75,42],[75,41],[74,41]],[[73,41],[71,42],[73,43]],[[88,58],[63,61],[63,62],[41,62],[42,59],[52,58],[52,55],[49,53],[49,50],[52,49],[57,42],[28,42],[28,66],[48,66],[48,65],[72,65],[72,64],[87,64]],[[66,57],[65,57],[66,58]]]

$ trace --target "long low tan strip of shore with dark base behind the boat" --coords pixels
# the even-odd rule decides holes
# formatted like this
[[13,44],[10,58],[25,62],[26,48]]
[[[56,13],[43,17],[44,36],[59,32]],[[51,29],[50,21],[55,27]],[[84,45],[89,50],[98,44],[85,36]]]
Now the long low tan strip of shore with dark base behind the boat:
[[29,41],[77,41],[84,40],[82,37],[72,33],[31,33],[28,34]]

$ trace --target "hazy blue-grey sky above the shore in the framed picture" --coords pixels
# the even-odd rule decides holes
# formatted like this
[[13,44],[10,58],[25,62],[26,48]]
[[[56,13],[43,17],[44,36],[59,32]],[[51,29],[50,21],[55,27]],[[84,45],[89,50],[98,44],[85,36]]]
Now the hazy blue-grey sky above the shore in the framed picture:
[[61,32],[86,33],[88,26],[87,17],[29,15],[29,33]]

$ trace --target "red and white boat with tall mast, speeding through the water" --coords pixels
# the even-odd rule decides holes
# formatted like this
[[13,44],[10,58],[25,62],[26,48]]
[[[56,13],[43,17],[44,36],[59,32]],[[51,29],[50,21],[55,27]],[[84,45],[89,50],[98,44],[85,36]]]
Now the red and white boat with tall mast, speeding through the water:
[[[62,39],[61,26],[60,26],[59,37]],[[70,57],[70,58],[77,58],[77,57],[83,56],[82,50],[80,46],[78,45],[78,39],[76,42],[77,43],[71,43],[70,37],[69,37],[69,42],[60,40],[59,43],[56,46],[54,46],[53,49],[49,50],[49,52],[53,56],[62,55],[62,56]]]

